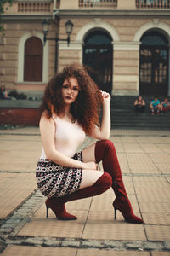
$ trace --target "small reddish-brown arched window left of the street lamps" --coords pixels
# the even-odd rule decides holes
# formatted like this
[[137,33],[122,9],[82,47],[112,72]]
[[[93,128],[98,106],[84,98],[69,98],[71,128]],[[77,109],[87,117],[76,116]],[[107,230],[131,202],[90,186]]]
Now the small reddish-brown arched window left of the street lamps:
[[42,40],[31,37],[26,40],[24,81],[42,82]]

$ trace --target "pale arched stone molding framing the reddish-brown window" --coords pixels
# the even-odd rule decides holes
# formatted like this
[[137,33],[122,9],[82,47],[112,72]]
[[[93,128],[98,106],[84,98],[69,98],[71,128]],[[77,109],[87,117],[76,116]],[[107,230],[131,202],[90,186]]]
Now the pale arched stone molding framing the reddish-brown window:
[[[25,50],[25,43],[28,38],[35,36],[40,38],[43,42],[43,35],[40,32],[36,32],[35,30],[32,32],[28,32],[24,34],[20,38],[19,43],[19,50],[18,50],[18,83],[24,82],[24,50]],[[48,82],[48,41],[46,45],[43,47],[43,61],[42,61],[42,83]],[[28,82],[29,84],[29,82]]]

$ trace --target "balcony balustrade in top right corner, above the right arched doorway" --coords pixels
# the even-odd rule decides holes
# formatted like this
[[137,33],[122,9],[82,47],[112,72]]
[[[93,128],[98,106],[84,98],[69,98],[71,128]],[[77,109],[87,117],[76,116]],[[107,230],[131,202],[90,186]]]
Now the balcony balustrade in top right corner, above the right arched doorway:
[[170,8],[170,0],[136,0],[137,8],[167,9]]

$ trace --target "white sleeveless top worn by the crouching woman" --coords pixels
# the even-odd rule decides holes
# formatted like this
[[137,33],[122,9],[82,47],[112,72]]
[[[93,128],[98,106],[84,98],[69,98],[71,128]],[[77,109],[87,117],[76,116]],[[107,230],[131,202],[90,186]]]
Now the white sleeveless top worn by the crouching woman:
[[[68,157],[73,157],[80,144],[83,143],[86,134],[77,121],[67,122],[65,119],[53,117],[55,122],[55,149]],[[42,148],[41,159],[46,159],[46,154]]]

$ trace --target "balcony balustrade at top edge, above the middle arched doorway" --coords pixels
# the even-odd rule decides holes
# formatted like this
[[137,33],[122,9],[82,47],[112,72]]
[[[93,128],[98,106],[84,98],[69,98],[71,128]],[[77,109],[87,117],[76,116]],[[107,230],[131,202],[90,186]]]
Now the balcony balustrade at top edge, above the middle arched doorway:
[[115,8],[117,0],[79,0],[81,8]]

